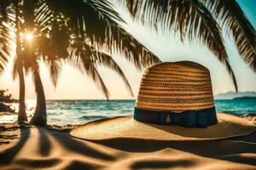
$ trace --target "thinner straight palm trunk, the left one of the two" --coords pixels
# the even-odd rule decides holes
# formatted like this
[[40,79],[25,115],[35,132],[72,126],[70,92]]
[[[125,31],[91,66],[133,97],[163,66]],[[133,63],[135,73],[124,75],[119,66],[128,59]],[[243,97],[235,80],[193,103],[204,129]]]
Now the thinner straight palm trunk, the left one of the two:
[[18,70],[19,81],[20,81],[20,96],[19,96],[19,113],[18,122],[27,121],[26,117],[26,105],[25,105],[25,79],[22,68]]

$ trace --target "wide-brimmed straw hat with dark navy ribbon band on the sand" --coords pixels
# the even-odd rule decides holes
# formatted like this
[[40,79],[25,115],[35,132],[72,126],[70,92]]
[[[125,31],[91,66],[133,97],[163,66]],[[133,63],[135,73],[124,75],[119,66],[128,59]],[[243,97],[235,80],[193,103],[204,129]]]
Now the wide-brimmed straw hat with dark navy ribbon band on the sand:
[[133,116],[89,122],[79,139],[207,140],[253,133],[252,123],[216,114],[210,72],[194,62],[160,63],[143,74]]

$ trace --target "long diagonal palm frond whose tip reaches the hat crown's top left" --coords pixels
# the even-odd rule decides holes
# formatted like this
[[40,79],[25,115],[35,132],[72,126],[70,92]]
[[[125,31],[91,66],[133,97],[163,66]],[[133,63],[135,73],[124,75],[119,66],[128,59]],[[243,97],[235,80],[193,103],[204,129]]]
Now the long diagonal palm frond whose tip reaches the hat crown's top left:
[[159,58],[117,24],[116,21],[121,19],[114,12],[111,3],[99,0],[86,2],[67,0],[61,3],[58,0],[47,0],[46,2],[49,8],[61,11],[68,17],[67,24],[73,29],[76,37],[90,40],[95,47],[104,46],[111,53],[119,51],[137,68],[160,62]]

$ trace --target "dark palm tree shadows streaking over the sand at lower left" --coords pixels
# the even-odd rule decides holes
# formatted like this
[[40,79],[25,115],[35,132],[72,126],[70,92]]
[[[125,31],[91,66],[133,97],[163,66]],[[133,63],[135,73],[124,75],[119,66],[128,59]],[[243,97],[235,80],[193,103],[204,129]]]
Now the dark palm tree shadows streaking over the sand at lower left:
[[[32,135],[32,129],[35,128],[38,130],[39,135]],[[68,152],[74,152],[82,156],[92,157],[94,159],[99,159],[103,161],[114,161],[115,157],[103,153],[99,150],[91,148],[86,143],[82,143],[77,139],[73,139],[69,133],[58,132],[55,130],[48,130],[45,127],[32,127],[32,128],[20,128],[20,139],[19,141],[7,150],[0,152],[0,167],[5,165],[14,165],[19,168],[29,167],[29,168],[44,168],[44,167],[54,167],[61,163],[61,159],[48,157],[50,152],[54,150],[52,143],[49,140],[49,137],[55,139],[55,141],[61,145],[61,147]],[[35,147],[37,150],[38,157],[35,158],[17,158],[16,156],[22,150],[26,142],[30,138],[38,138],[35,141],[38,141],[38,146]],[[32,146],[34,147],[34,146]],[[29,153],[28,153],[29,155]],[[41,157],[40,157],[41,156]],[[86,161],[72,160],[65,167],[65,169],[96,169],[101,168],[101,166],[92,164]],[[22,168],[21,168],[22,169]]]

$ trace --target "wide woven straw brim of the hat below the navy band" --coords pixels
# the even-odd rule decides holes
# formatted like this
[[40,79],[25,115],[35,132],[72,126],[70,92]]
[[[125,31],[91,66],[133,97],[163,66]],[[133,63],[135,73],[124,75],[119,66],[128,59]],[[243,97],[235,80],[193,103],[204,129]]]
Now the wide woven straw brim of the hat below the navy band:
[[74,128],[73,137],[87,140],[211,140],[245,136],[255,131],[253,123],[237,116],[218,113],[218,123],[207,128],[158,125],[137,122],[132,116],[119,116],[89,122]]

